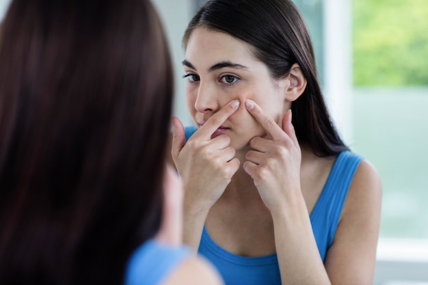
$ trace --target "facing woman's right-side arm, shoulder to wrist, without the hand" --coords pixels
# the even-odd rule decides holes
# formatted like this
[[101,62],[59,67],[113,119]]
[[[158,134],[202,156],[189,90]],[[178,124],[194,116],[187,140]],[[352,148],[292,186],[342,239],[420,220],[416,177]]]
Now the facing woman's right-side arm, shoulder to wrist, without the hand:
[[362,161],[324,264],[301,199],[296,199],[300,202],[294,207],[287,206],[282,214],[273,215],[281,275],[286,276],[282,284],[373,284],[381,198],[379,175],[367,161]]

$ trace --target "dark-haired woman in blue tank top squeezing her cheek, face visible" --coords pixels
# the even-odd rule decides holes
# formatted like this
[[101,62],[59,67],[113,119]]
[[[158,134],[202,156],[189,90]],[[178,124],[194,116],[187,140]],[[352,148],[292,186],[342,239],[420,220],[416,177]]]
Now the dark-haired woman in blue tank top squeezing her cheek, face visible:
[[209,1],[183,45],[185,242],[226,284],[371,284],[382,185],[330,120],[295,5]]

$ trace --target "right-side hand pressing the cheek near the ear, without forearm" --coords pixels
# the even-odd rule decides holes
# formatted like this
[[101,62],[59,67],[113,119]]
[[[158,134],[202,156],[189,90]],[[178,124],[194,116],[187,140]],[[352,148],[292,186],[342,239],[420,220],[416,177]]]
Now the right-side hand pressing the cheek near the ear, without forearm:
[[284,203],[300,189],[302,153],[291,124],[291,110],[282,118],[282,128],[254,101],[245,101],[250,114],[266,131],[266,137],[253,137],[243,168],[256,185],[260,197],[271,213],[281,211]]

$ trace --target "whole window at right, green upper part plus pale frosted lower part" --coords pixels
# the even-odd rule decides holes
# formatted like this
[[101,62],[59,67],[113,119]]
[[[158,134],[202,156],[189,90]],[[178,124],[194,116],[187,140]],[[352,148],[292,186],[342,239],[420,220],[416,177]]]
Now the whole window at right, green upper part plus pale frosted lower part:
[[427,18],[425,0],[353,0],[351,147],[382,176],[382,238],[428,239]]

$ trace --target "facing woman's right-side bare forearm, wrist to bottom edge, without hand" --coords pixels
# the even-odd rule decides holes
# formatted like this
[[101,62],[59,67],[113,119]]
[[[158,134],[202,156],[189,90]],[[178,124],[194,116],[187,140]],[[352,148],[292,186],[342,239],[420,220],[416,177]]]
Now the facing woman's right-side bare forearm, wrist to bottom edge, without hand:
[[331,284],[303,197],[272,217],[282,284]]

